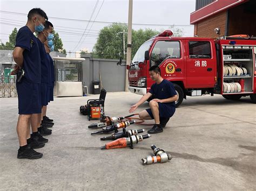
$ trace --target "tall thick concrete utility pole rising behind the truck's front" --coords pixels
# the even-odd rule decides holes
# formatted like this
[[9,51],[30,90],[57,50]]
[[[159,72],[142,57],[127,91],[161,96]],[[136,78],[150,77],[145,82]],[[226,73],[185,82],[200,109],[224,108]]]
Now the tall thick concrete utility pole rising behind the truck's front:
[[[132,0],[129,0],[129,14],[128,14],[128,35],[127,35],[127,51],[126,51],[126,65],[130,66],[132,57]],[[128,91],[128,70],[126,69],[125,76],[125,91]]]

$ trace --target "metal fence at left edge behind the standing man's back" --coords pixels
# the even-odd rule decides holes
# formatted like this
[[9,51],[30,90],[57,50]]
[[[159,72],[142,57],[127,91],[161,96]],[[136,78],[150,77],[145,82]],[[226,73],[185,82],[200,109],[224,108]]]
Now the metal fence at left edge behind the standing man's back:
[[11,68],[0,68],[0,97],[17,97],[16,76],[11,76]]

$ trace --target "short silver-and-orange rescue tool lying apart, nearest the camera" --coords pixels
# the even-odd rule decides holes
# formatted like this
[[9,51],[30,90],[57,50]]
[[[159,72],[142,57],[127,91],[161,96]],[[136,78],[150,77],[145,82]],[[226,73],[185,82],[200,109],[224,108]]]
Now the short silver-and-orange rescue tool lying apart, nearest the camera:
[[168,160],[172,159],[171,154],[167,154],[164,150],[156,147],[155,145],[151,145],[151,148],[154,152],[154,156],[147,156],[146,158],[142,159],[143,165],[150,165],[157,162],[167,162]]

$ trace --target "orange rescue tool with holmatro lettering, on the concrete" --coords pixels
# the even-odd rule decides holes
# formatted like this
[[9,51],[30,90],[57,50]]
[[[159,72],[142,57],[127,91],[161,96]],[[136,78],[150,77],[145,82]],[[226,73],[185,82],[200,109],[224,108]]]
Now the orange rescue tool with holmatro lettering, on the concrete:
[[105,144],[101,149],[111,149],[111,148],[124,148],[126,146],[130,146],[130,148],[133,148],[133,144],[137,144],[141,142],[143,139],[150,138],[151,135],[131,135],[129,133],[129,137],[127,138],[120,138],[117,140],[113,140],[110,143]]

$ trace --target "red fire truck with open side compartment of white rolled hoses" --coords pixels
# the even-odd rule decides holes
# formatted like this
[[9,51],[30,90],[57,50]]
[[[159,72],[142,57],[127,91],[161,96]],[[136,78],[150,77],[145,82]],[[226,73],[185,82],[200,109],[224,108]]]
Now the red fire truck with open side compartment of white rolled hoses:
[[250,96],[256,103],[256,39],[230,36],[172,37],[167,30],[147,40],[134,55],[129,69],[129,90],[145,95],[154,81],[149,68],[157,65],[178,94],[178,107],[186,96],[221,94],[228,100]]

